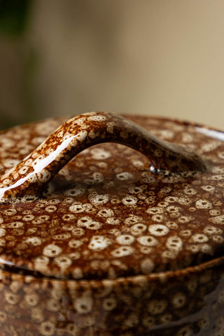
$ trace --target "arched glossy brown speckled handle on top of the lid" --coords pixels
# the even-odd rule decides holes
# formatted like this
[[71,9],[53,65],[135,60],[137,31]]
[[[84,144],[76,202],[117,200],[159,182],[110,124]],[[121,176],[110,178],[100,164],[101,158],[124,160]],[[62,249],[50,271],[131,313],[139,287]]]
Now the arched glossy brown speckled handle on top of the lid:
[[0,179],[0,198],[38,195],[71,158],[104,142],[123,144],[150,160],[151,172],[204,171],[202,159],[188,148],[161,141],[122,116],[85,113],[68,120]]

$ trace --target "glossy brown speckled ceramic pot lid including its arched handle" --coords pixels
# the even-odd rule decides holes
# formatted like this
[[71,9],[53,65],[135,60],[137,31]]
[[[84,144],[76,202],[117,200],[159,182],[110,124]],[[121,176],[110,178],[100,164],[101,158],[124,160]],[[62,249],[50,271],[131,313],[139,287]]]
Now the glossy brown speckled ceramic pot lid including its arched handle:
[[1,269],[114,279],[223,254],[222,132],[103,112],[64,121],[0,133]]

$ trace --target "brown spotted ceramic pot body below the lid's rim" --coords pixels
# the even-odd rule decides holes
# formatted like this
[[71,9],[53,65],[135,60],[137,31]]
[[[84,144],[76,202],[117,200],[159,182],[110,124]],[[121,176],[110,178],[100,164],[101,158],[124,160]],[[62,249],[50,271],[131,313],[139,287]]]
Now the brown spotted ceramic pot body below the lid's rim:
[[1,336],[216,336],[224,332],[223,258],[102,281],[1,272]]

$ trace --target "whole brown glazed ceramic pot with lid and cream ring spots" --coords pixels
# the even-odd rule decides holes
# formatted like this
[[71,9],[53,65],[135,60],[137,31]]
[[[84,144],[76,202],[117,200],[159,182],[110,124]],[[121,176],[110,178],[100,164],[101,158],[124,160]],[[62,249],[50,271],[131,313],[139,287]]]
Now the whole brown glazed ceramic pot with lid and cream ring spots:
[[64,122],[0,133],[0,336],[223,336],[224,134]]

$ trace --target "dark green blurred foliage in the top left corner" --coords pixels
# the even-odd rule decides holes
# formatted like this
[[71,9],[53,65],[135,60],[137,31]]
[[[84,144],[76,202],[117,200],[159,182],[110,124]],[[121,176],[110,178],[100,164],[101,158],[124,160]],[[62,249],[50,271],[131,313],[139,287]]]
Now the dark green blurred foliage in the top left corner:
[[20,36],[26,29],[31,0],[0,0],[0,32]]

